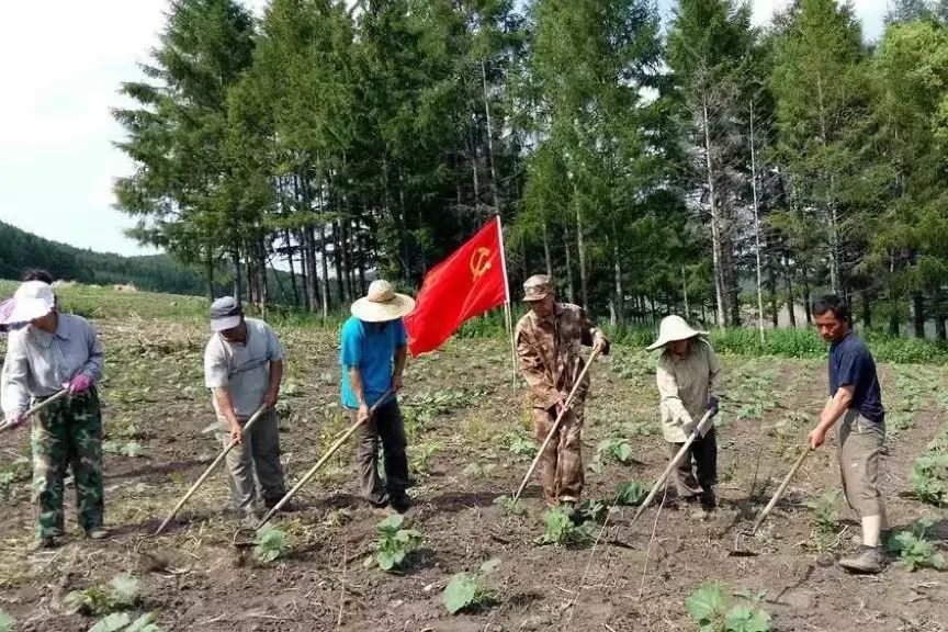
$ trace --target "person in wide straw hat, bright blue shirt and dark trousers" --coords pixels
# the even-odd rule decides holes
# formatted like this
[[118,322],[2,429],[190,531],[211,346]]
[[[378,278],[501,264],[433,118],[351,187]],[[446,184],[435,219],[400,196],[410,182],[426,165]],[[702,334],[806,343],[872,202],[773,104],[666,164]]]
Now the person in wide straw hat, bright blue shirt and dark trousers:
[[[405,421],[396,394],[402,390],[408,354],[402,318],[413,309],[414,298],[396,294],[387,281],[373,281],[369,293],[352,304],[339,351],[342,406],[353,422],[362,422],[356,450],[362,496],[375,507],[391,505],[399,512],[411,505],[405,492],[409,485]],[[385,454],[384,487],[379,478],[380,440]]]

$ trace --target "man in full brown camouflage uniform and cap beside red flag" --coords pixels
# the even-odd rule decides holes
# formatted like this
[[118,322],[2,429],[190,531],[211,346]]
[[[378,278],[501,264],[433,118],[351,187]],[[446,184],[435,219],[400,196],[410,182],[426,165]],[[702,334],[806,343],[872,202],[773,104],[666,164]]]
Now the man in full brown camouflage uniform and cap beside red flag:
[[[531,276],[523,283],[523,291],[530,312],[517,323],[514,338],[520,370],[530,387],[533,436],[542,444],[583,371],[583,346],[608,354],[609,341],[582,308],[556,302],[550,276]],[[588,392],[587,373],[541,456],[543,494],[551,507],[561,503],[574,506],[583,494],[580,433]]]

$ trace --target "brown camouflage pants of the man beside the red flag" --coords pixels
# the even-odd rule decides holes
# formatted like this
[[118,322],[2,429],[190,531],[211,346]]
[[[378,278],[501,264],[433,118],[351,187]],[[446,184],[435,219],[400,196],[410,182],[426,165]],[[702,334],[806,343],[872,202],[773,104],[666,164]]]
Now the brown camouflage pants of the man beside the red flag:
[[[556,421],[556,409],[533,408],[533,438],[543,444]],[[582,448],[583,403],[573,404],[563,416],[556,435],[540,458],[540,477],[546,504],[578,503],[583,494],[584,472]]]

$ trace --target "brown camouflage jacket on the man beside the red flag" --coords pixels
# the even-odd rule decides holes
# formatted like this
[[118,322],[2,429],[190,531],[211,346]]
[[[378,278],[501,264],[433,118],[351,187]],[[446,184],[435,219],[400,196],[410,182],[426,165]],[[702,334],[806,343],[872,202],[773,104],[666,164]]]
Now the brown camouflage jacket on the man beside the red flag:
[[[548,318],[528,312],[517,323],[514,338],[520,370],[530,387],[530,405],[544,409],[555,406],[561,393],[565,399],[573,388],[583,371],[580,351],[584,345],[591,347],[601,340],[607,353],[609,346],[602,332],[586,318],[586,313],[568,303],[556,303],[553,314]],[[588,391],[587,373],[574,400],[582,404]]]

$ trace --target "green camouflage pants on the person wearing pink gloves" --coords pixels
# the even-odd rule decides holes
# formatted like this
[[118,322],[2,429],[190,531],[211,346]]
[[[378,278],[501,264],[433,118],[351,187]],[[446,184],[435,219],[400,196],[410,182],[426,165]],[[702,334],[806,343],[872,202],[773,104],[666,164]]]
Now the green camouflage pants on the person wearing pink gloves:
[[71,465],[79,526],[102,527],[102,414],[94,388],[54,402],[33,417],[33,503],[36,537],[61,535],[64,477]]

